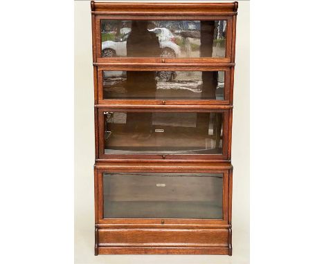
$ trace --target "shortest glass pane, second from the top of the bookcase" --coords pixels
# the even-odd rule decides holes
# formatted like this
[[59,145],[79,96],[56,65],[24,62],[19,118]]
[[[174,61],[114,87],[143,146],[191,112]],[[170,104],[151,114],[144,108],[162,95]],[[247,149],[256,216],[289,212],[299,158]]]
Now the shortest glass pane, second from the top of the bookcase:
[[103,70],[104,99],[224,100],[224,71]]

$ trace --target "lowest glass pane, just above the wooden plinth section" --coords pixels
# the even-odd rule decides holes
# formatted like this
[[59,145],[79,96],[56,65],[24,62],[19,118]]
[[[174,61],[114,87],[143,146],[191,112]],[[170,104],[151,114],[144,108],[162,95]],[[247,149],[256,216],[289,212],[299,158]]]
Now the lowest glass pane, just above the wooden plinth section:
[[104,218],[223,218],[222,173],[104,173]]

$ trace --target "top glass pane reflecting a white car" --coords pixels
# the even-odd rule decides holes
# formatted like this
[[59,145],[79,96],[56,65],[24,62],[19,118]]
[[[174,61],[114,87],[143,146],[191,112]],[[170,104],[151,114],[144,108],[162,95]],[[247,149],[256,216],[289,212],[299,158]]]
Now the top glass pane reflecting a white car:
[[226,20],[101,20],[102,57],[225,57]]

